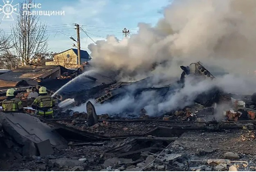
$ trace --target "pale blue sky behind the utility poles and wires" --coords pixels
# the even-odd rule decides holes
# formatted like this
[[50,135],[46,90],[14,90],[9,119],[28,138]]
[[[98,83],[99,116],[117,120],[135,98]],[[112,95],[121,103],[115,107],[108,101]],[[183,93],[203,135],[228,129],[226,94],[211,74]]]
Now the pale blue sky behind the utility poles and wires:
[[[19,2],[23,1],[13,0],[11,4]],[[65,15],[40,16],[40,20],[47,24],[49,50],[61,52],[72,48],[75,43],[69,38],[76,39],[75,23],[90,37],[80,30],[81,49],[88,51],[88,44],[103,40],[107,35],[123,39],[124,28],[130,30],[130,34],[137,33],[139,22],[154,26],[163,17],[161,11],[170,4],[170,0],[36,0],[35,3],[41,4],[41,8],[35,11],[65,11]],[[2,0],[0,5],[3,5]],[[0,14],[0,19],[3,16],[3,13]],[[0,23],[6,34],[10,34],[17,15],[12,16],[13,21]]]

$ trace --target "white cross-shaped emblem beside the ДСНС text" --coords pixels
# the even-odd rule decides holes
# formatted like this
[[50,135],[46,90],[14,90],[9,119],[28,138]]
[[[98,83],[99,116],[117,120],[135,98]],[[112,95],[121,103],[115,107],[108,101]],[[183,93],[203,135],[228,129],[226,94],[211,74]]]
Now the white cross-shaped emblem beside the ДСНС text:
[[0,14],[4,13],[4,17],[2,20],[13,20],[12,13],[17,14],[19,12],[19,4],[12,5],[13,0],[3,0],[4,5],[0,5]]

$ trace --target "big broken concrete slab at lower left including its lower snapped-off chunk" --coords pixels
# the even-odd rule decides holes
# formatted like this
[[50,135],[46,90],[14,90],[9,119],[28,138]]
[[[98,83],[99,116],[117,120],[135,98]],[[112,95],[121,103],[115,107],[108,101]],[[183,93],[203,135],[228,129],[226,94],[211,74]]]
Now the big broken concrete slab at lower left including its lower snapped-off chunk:
[[52,128],[41,122],[38,118],[25,113],[2,113],[0,112],[2,129],[8,133],[13,142],[22,147],[23,156],[37,154],[35,144],[49,139],[53,146],[65,145],[65,140],[53,132]]

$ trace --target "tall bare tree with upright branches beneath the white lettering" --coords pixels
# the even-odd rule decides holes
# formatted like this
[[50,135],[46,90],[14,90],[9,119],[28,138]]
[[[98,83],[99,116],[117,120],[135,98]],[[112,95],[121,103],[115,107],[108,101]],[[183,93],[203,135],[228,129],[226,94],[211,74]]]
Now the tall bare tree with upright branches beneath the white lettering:
[[[33,4],[33,0],[25,0],[25,4]],[[22,59],[22,64],[27,65],[36,57],[36,54],[47,52],[48,35],[46,24],[40,22],[38,15],[27,15],[32,13],[33,8],[27,9],[24,14],[23,6],[16,23],[11,27],[12,40],[18,56]]]

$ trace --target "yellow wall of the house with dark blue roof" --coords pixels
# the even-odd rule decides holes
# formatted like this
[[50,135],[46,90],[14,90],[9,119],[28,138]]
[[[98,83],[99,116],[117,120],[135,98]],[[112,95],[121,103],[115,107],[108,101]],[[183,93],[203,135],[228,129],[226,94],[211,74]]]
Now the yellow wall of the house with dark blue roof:
[[[67,58],[67,54],[70,54],[70,57]],[[53,61],[45,62],[45,65],[61,65],[66,68],[79,67],[77,65],[77,57],[73,50],[68,50],[60,54],[56,54],[53,57]]]

